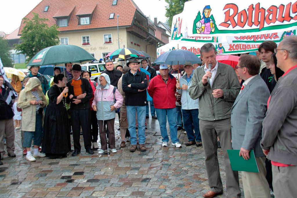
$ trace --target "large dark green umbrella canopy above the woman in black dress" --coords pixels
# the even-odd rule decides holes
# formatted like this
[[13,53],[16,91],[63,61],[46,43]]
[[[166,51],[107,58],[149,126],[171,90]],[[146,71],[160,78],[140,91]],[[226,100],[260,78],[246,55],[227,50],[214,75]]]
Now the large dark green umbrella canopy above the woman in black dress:
[[76,45],[55,45],[39,51],[27,66],[59,65],[64,63],[86,63],[96,61],[94,56]]

